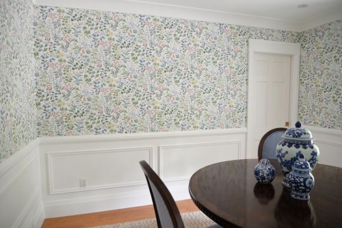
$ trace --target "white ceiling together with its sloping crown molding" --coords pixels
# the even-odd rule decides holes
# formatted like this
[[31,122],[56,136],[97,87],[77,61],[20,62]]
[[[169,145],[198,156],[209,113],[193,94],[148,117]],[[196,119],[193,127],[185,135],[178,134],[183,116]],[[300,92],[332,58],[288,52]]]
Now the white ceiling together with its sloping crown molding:
[[[51,5],[108,10],[255,27],[302,31],[342,18],[342,0],[32,0]],[[298,8],[306,3],[307,8]]]

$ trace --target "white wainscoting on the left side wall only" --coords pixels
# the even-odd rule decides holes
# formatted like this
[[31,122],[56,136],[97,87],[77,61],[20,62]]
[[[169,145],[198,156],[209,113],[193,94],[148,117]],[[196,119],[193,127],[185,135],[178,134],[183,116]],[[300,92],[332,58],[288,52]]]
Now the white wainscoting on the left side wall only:
[[39,139],[0,164],[0,227],[41,227]]

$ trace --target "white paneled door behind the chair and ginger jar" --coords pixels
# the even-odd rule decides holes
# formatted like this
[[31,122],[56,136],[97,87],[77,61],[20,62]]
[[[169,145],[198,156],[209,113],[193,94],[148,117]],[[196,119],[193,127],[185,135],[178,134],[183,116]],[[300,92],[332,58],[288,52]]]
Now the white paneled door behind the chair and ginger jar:
[[248,87],[248,157],[257,158],[260,139],[289,122],[289,55],[254,53]]

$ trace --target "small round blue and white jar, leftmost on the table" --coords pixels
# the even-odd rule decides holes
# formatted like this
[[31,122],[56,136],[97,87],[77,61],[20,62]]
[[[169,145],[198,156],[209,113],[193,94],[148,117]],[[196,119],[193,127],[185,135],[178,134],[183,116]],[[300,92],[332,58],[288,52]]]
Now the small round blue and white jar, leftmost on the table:
[[261,184],[269,184],[273,182],[276,170],[269,163],[268,159],[261,159],[259,164],[254,167],[254,176]]

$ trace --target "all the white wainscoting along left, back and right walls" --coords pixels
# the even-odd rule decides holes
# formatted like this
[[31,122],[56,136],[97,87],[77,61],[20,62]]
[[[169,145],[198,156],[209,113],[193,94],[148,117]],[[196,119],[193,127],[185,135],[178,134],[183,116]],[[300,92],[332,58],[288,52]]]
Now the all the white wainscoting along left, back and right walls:
[[[342,131],[304,127],[316,138],[319,163],[342,167]],[[200,167],[244,158],[246,128],[42,137],[0,164],[0,227],[151,204],[140,160],[181,200],[189,199],[189,177]]]

